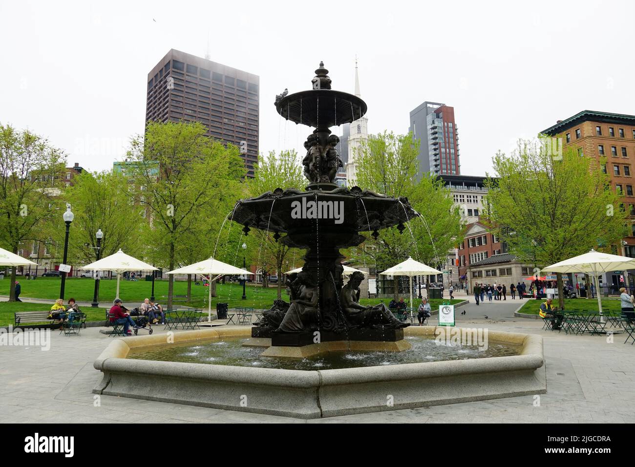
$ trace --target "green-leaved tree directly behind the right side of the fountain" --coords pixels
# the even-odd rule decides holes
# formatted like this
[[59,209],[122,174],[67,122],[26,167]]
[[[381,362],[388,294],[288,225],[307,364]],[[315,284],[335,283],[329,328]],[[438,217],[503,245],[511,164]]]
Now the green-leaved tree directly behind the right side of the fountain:
[[[460,212],[443,180],[430,173],[417,180],[419,144],[411,134],[384,132],[370,135],[359,147],[356,184],[393,198],[408,198],[420,217],[410,220],[401,233],[397,227],[383,229],[377,240],[370,238],[360,247],[349,248],[352,261],[381,270],[411,256],[438,267],[445,263],[448,250],[462,241]],[[396,297],[397,280],[394,290]]]

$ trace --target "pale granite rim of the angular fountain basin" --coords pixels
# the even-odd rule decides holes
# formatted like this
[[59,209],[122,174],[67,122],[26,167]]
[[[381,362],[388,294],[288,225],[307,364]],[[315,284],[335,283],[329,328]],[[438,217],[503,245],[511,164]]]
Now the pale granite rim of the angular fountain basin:
[[[434,337],[436,327],[406,328]],[[173,341],[250,337],[251,329],[178,332]],[[380,367],[282,370],[206,363],[130,360],[131,349],[166,343],[166,335],[114,339],[95,360],[93,393],[304,419],[547,391],[542,337],[490,331],[491,342],[521,345],[519,355]]]

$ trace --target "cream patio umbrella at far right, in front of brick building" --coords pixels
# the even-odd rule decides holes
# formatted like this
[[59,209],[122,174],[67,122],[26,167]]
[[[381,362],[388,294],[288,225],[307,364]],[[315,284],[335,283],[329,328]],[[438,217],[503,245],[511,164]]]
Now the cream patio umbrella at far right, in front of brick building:
[[615,269],[632,269],[635,268],[635,259],[611,255],[608,253],[596,252],[591,250],[584,255],[575,256],[565,259],[565,261],[557,262],[551,266],[546,266],[541,271],[549,273],[588,273],[595,278],[596,290],[598,291],[598,307],[599,314],[602,314],[602,297],[599,290],[598,273],[606,271],[614,271]]

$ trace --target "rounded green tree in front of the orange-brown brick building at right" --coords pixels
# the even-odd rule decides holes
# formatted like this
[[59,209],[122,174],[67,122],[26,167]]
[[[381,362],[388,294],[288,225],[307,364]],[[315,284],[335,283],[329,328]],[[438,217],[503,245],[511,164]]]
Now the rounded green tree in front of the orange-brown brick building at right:
[[[544,142],[519,140],[511,155],[493,157],[498,179],[486,181],[484,219],[511,253],[542,267],[606,248],[627,234],[621,194],[610,186],[605,163],[574,149],[556,154]],[[557,277],[562,307],[562,274]]]

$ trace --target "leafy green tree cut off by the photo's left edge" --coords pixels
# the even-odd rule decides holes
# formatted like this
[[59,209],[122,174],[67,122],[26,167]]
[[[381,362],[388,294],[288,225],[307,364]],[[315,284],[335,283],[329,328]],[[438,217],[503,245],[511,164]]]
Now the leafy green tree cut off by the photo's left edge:
[[[0,123],[0,244],[17,254],[21,244],[41,240],[41,226],[53,216],[64,186],[64,153],[29,130]],[[10,301],[15,301],[15,267]]]

